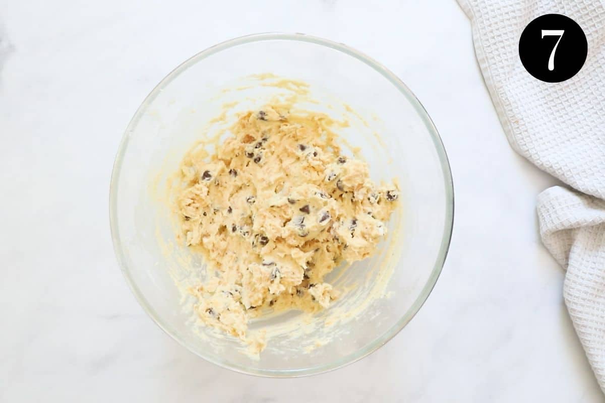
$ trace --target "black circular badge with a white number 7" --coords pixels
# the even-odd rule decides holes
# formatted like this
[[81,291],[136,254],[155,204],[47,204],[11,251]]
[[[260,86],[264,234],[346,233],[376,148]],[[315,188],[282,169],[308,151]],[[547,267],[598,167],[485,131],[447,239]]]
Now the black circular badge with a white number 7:
[[519,57],[529,74],[548,83],[574,77],[584,65],[588,44],[580,25],[560,14],[530,22],[519,39]]

